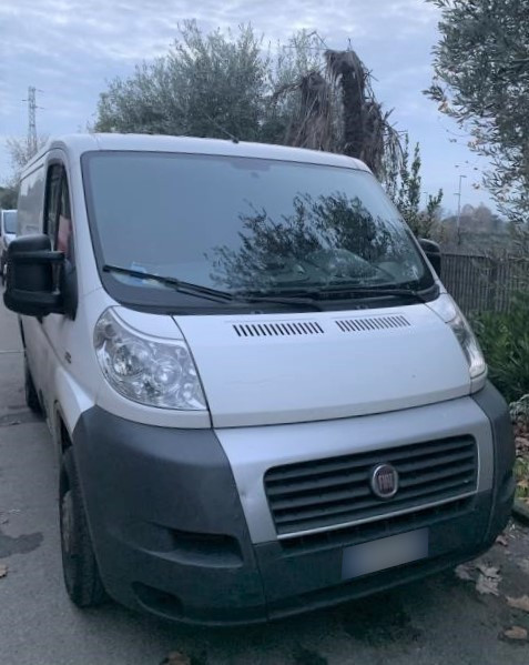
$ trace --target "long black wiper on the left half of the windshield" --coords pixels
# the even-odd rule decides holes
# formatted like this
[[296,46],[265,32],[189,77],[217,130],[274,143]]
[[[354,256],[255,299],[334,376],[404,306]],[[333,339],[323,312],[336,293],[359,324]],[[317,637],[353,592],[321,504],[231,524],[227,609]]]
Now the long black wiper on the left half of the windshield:
[[157,275],[150,272],[143,272],[143,270],[134,270],[133,268],[123,268],[121,265],[111,265],[105,263],[102,268],[103,272],[118,272],[125,274],[130,278],[138,278],[140,280],[154,280],[161,284],[165,284],[179,291],[179,293],[186,293],[189,295],[199,295],[216,302],[237,302],[237,303],[269,303],[281,305],[303,305],[313,308],[315,310],[322,310],[321,305],[312,298],[268,298],[266,295],[254,295],[252,293],[228,293],[227,291],[221,291],[218,289],[210,289],[208,286],[202,286],[201,284],[193,284],[192,282],[185,282],[177,278],[171,278],[165,275]]

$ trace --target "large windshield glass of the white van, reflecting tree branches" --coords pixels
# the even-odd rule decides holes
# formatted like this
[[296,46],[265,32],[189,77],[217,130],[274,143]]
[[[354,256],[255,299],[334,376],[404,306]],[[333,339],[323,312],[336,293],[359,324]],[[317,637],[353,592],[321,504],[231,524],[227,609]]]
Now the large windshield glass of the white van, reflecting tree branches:
[[[83,160],[101,263],[234,294],[426,289],[434,279],[368,172],[266,159],[100,152]],[[100,265],[101,266],[101,265]]]

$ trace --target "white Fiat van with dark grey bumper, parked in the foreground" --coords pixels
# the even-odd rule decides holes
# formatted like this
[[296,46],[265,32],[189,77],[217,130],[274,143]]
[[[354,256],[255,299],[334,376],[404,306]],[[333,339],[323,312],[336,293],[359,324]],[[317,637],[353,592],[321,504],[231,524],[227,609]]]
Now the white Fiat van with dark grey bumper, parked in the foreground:
[[363,163],[78,134],[27,167],[18,220],[4,302],[78,605],[264,621],[454,566],[506,525],[507,405],[438,249]]

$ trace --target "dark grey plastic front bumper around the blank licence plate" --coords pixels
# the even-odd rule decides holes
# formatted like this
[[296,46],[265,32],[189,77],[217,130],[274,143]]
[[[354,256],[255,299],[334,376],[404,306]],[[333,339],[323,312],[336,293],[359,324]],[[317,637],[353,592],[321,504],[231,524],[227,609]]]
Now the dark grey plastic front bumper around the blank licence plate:
[[[111,596],[181,622],[266,621],[360,597],[456,565],[487,550],[513,496],[507,405],[488,385],[475,402],[490,421],[491,488],[388,522],[384,535],[428,526],[429,557],[342,581],[345,546],[378,526],[256,542],[232,466],[211,430],[172,430],[94,407],[73,434],[92,541]],[[374,528],[378,535],[374,536]]]

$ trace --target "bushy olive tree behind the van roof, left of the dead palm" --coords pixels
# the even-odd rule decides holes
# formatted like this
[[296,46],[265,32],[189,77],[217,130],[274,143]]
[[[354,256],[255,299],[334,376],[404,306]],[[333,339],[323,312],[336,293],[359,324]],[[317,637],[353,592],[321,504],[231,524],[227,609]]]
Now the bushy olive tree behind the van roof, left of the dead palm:
[[101,93],[96,131],[256,140],[267,56],[251,27],[204,36],[187,21],[169,53]]

